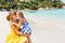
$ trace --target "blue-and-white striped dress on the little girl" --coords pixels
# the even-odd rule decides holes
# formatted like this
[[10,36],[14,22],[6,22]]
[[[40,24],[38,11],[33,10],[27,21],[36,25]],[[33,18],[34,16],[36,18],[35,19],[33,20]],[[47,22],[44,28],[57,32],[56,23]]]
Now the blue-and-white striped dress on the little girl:
[[30,25],[28,24],[28,22],[25,22],[23,27],[21,27],[21,31],[26,34],[31,34],[31,28],[30,28]]

